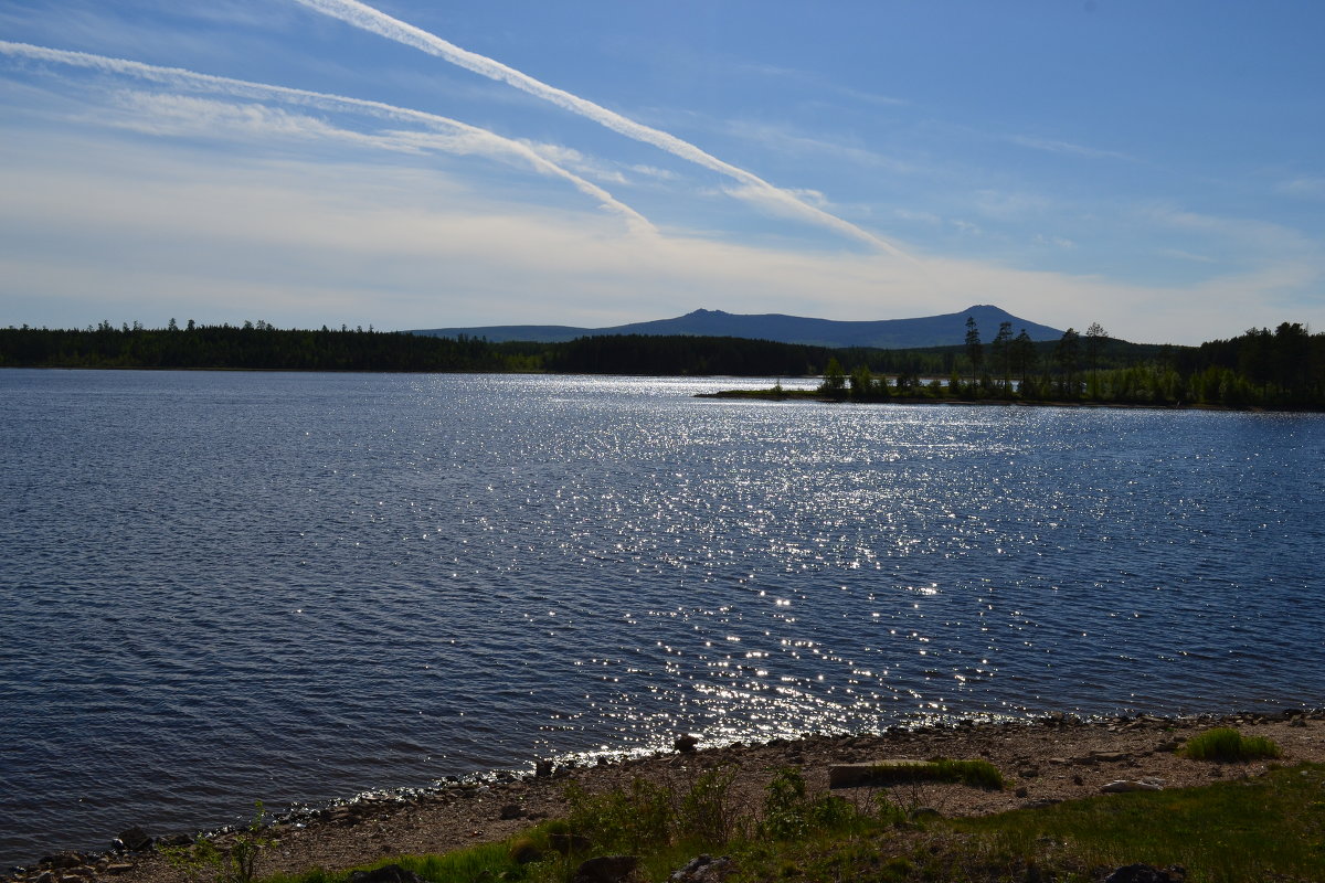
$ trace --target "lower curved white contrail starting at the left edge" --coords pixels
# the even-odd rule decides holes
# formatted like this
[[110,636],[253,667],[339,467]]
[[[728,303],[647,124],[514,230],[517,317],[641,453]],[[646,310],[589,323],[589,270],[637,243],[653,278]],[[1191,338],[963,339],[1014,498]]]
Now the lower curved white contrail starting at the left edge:
[[48,49],[45,46],[9,42],[7,40],[0,40],[0,54],[102,70],[106,73],[136,77],[139,79],[147,79],[167,86],[188,86],[197,90],[223,93],[237,98],[274,98],[322,110],[343,110],[352,107],[384,119],[425,123],[428,126],[449,130],[464,136],[464,140],[450,146],[452,152],[507,155],[525,160],[539,172],[570,181],[578,191],[598,200],[603,208],[623,216],[632,232],[657,232],[647,217],[632,209],[629,205],[625,205],[592,181],[587,181],[579,175],[575,175],[556,163],[545,159],[527,144],[522,144],[521,142],[511,140],[509,138],[502,138],[501,135],[486,128],[470,126],[448,116],[439,116],[437,114],[428,114],[409,107],[386,105],[378,101],[348,98],[346,95],[333,95],[327,93],[309,91],[306,89],[292,89],[288,86],[274,86],[270,83],[250,82],[246,79],[232,79],[229,77],[216,77],[212,74],[186,70],[184,68],[159,68],[156,65],[146,65],[139,61],[94,56],[85,52]]

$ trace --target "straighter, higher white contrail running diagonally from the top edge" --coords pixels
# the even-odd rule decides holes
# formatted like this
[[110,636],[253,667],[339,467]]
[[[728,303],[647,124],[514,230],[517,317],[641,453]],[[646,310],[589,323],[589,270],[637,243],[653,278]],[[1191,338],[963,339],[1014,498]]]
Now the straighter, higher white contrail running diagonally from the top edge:
[[395,40],[396,42],[407,46],[421,49],[428,54],[437,56],[439,58],[444,58],[454,65],[460,65],[461,68],[474,71],[476,74],[482,74],[484,77],[510,83],[515,89],[521,89],[530,95],[549,101],[558,107],[563,107],[574,114],[592,119],[594,122],[600,123],[612,131],[620,132],[627,138],[633,138],[635,140],[644,142],[645,144],[652,144],[653,147],[665,150],[669,154],[680,156],[681,159],[702,165],[704,168],[733,177],[750,188],[753,195],[775,203],[800,217],[808,218],[832,230],[837,230],[839,233],[844,233],[845,236],[867,242],[876,249],[881,249],[890,254],[906,258],[910,257],[892,242],[888,242],[886,240],[882,240],[849,221],[844,221],[835,214],[829,214],[823,209],[808,205],[796,199],[795,195],[774,187],[758,175],[747,172],[743,168],[738,168],[737,165],[731,165],[730,163],[725,163],[717,156],[704,152],[694,144],[681,140],[676,135],[637,123],[633,119],[623,116],[600,105],[595,105],[594,102],[580,98],[579,95],[572,95],[568,91],[550,86],[539,79],[534,79],[529,74],[515,70],[514,68],[509,68],[500,61],[488,58],[486,56],[480,56],[478,53],[469,52],[468,49],[461,49],[460,46],[447,42],[436,34],[428,33],[427,30],[400,21],[399,19],[392,19],[379,9],[374,9],[372,7],[359,3],[359,0],[297,0],[297,3],[302,3],[310,9],[315,9],[323,15],[331,16],[333,19],[339,19],[341,21],[351,24],[355,28],[362,28],[363,30],[376,33],[388,40]]

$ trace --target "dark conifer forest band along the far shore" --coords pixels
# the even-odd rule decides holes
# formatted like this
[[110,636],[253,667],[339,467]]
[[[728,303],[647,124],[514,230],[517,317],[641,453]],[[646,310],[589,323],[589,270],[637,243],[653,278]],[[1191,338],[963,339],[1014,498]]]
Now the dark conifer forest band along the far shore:
[[[549,372],[823,376],[812,393],[855,401],[991,400],[1325,409],[1325,334],[1298,323],[1199,347],[1133,344],[1098,324],[1032,342],[974,320],[951,347],[868,349],[745,338],[600,335],[566,343],[432,338],[371,327],[282,330],[266,322],[164,328],[0,328],[0,367],[235,371]],[[754,393],[745,393],[754,395]],[[780,389],[763,396],[791,397]]]

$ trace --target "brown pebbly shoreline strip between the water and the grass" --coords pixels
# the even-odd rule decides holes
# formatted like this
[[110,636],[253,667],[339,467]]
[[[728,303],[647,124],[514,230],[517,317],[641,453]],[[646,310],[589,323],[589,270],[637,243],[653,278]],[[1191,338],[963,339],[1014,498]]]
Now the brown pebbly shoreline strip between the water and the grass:
[[[533,774],[497,772],[435,789],[366,794],[282,815],[265,830],[273,845],[264,851],[258,872],[260,876],[294,874],[319,867],[335,871],[392,855],[445,853],[500,841],[563,813],[566,786],[572,781],[590,792],[628,786],[636,777],[684,788],[714,767],[738,770],[735,786],[749,806],[762,802],[768,780],[788,765],[802,769],[812,790],[828,789],[833,767],[935,756],[984,759],[1008,780],[1002,792],[933,782],[894,788],[896,800],[943,815],[1043,806],[1110,790],[1185,788],[1268,769],[1267,761],[1211,764],[1175,753],[1186,739],[1212,727],[1235,727],[1243,735],[1273,739],[1284,751],[1284,757],[1273,761],[1277,764],[1325,763],[1325,708],[1295,708],[1277,715],[1137,715],[1092,721],[1053,714],[1034,721],[967,720],[951,727],[894,727],[880,733],[811,735],[709,749],[681,737],[674,751],[651,757],[604,759],[594,765],[542,761]],[[835,793],[852,797],[849,788]],[[235,831],[227,829],[208,837],[223,845]],[[32,866],[11,868],[0,875],[0,882],[175,883],[180,872],[158,846],[189,841],[189,837],[152,837],[129,829],[110,851],[49,855]]]

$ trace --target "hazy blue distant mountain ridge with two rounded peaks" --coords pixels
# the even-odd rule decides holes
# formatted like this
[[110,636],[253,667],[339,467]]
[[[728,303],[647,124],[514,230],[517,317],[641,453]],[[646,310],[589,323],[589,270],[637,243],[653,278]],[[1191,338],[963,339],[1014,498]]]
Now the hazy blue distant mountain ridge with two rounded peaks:
[[974,306],[961,312],[921,319],[880,319],[877,322],[837,322],[808,319],[779,312],[741,315],[722,310],[696,310],[674,319],[635,322],[611,328],[574,328],[570,326],[485,326],[477,328],[429,328],[411,334],[433,338],[486,338],[493,343],[504,340],[537,340],[559,343],[594,335],[694,335],[712,338],[753,338],[780,343],[804,343],[815,347],[878,347],[881,349],[912,349],[916,347],[959,346],[966,339],[966,318],[974,316],[980,339],[990,342],[1003,322],[1012,323],[1012,334],[1022,328],[1032,340],[1057,340],[1063,331],[1026,319],[991,306]]

